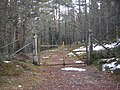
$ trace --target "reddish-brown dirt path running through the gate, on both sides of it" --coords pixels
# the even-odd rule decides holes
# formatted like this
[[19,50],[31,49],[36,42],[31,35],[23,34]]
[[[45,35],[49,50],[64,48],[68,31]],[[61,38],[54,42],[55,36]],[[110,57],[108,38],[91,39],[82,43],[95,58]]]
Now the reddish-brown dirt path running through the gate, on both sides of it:
[[[49,55],[51,64],[62,64],[63,57],[66,63],[75,63],[73,58],[64,56],[62,52],[52,52]],[[83,68],[86,71],[61,70],[64,67]],[[111,74],[85,64],[50,66],[45,72],[42,83],[36,85],[35,90],[120,90],[119,83]]]

